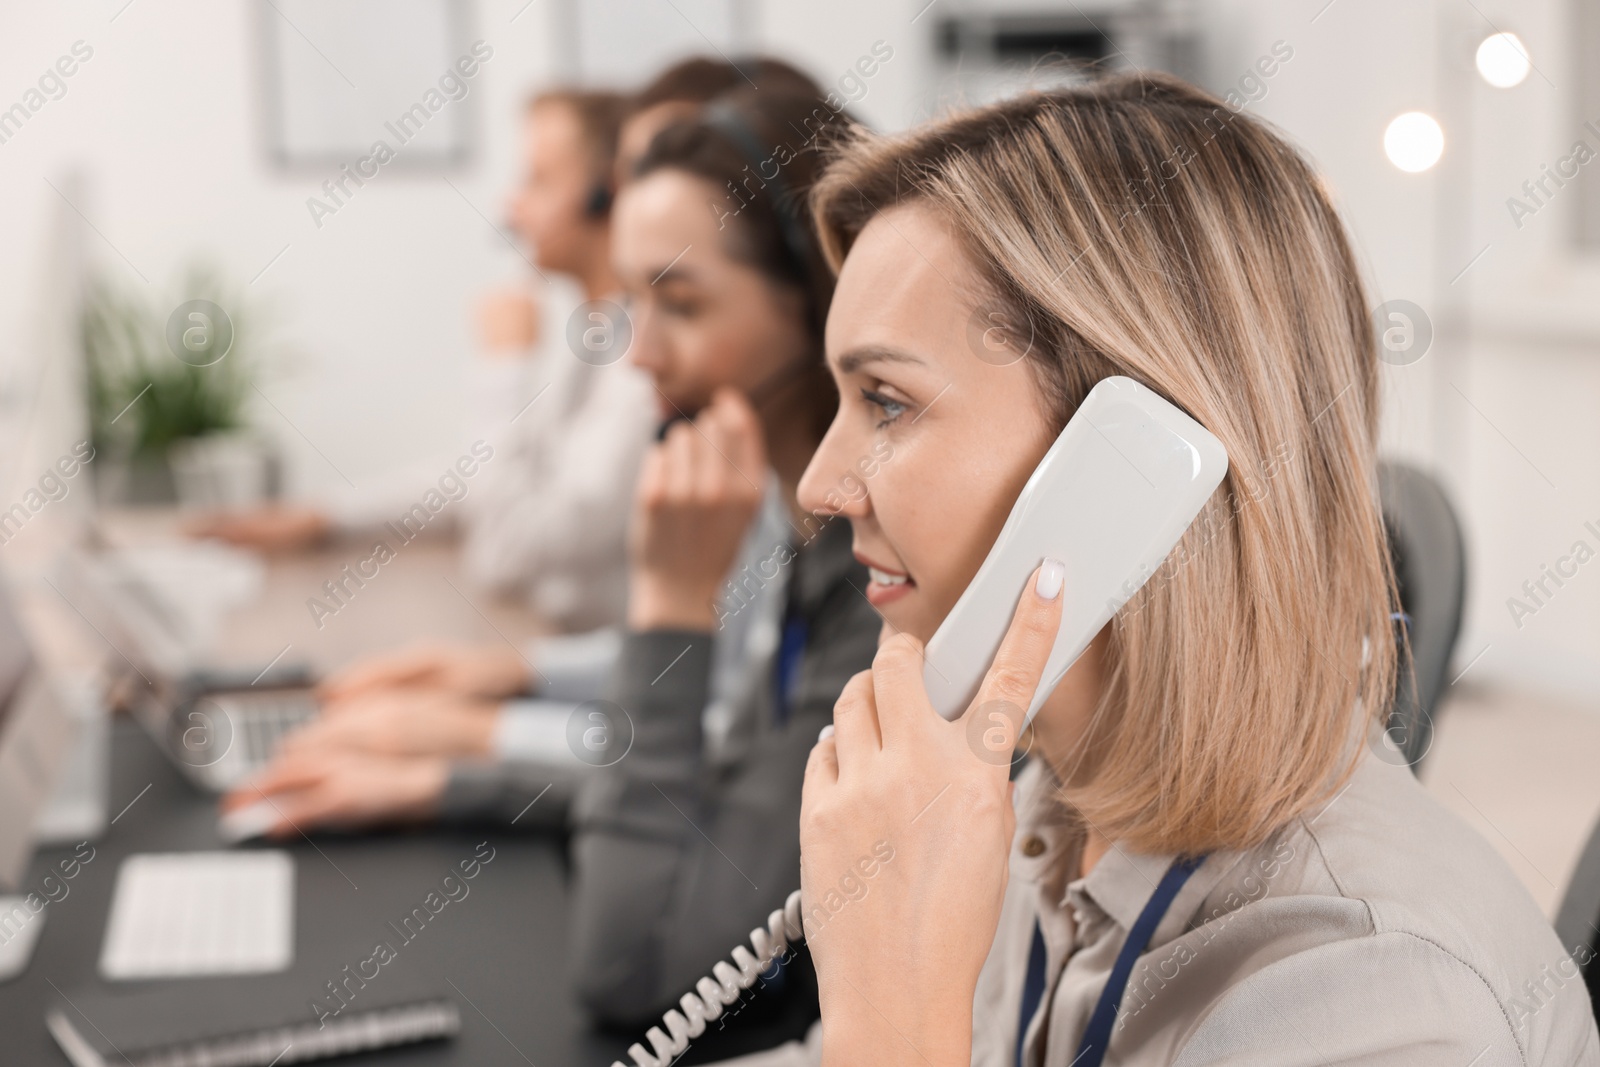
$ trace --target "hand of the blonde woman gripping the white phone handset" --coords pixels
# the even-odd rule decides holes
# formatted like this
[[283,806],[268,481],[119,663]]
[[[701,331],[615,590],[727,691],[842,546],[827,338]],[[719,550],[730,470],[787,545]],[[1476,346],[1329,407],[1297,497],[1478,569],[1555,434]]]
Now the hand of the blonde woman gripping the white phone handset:
[[971,1062],[973,992],[1016,830],[1010,760],[984,734],[1008,723],[1010,755],[1061,625],[1061,584],[1053,560],[1034,573],[962,718],[934,713],[922,643],[899,633],[811,750],[800,886],[827,1067]]

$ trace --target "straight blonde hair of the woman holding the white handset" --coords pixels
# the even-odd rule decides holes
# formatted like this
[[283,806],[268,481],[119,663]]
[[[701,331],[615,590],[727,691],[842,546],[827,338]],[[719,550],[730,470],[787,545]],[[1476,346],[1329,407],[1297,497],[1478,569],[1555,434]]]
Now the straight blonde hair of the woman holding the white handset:
[[1166,75],[859,131],[813,194],[837,269],[896,203],[968,251],[1064,426],[1126,374],[1227,448],[1227,477],[1115,616],[1061,797],[1150,853],[1248,848],[1331,795],[1387,713],[1378,358],[1338,214],[1264,123]]

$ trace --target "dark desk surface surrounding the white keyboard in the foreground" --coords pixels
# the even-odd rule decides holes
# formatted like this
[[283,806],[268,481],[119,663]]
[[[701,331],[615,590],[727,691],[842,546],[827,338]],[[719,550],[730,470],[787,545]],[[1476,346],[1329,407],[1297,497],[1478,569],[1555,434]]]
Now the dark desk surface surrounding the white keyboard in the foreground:
[[[146,792],[139,795],[141,790]],[[214,801],[179,777],[130,721],[114,728],[110,797],[112,813],[138,800],[93,843],[94,859],[66,883],[67,896],[45,909],[45,928],[27,971],[0,985],[3,1064],[67,1064],[45,1030],[45,1011],[58,1003],[51,984],[67,997],[78,989],[109,985],[96,966],[123,857],[221,848]],[[536,835],[427,830],[317,835],[285,845],[296,865],[294,963],[277,981],[304,981],[310,1021],[309,1001],[323,992],[323,984],[346,965],[370,957],[376,942],[397,941],[386,923],[418,907],[446,870],[470,859],[483,840],[494,848],[494,859],[467,883],[470,893],[464,899],[448,904],[400,949],[397,961],[421,971],[429,984],[437,982],[438,992],[456,1000],[461,1035],[331,1062],[386,1067],[630,1062],[624,1049],[638,1035],[592,1030],[566,989],[563,859],[558,843]],[[58,849],[35,856],[24,886],[37,888],[56,861],[70,854],[72,849]],[[229,982],[243,989],[250,981],[261,979],[189,979],[163,985],[178,993],[174,1001],[182,1001],[184,987],[210,987],[203,995],[214,995]],[[374,985],[381,981],[382,974]],[[357,1005],[358,998],[352,1008]]]

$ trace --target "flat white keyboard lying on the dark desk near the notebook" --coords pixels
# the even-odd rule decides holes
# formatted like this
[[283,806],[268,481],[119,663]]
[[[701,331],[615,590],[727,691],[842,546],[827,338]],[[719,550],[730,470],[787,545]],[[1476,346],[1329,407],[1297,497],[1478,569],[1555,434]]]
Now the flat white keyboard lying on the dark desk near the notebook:
[[107,979],[261,974],[294,953],[294,859],[283,851],[146,853],[117,870]]

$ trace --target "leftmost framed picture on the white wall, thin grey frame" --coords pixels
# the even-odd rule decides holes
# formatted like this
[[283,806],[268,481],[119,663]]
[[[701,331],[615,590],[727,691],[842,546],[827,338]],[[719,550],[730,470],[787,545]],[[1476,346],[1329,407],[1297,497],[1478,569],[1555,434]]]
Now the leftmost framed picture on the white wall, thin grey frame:
[[[325,171],[446,170],[474,150],[467,0],[258,0],[267,158]],[[382,144],[382,150],[378,146]],[[370,165],[371,166],[371,165]]]

